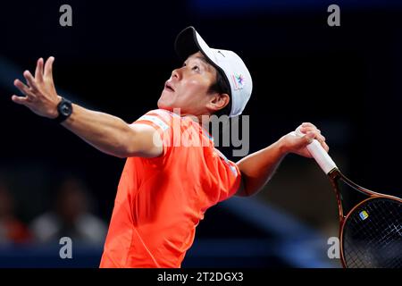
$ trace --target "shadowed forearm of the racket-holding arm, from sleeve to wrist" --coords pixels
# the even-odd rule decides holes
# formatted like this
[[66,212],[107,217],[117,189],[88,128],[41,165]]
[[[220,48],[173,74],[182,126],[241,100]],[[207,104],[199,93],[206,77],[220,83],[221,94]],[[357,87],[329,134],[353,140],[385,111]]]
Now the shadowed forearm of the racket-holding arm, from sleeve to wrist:
[[243,176],[244,196],[255,195],[271,179],[286,156],[281,140],[241,159],[237,164]]

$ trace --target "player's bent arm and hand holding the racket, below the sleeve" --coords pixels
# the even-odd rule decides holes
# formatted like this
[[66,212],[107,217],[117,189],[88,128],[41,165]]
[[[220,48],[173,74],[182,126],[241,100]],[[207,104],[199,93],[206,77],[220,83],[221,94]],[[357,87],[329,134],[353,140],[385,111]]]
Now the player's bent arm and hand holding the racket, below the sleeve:
[[312,123],[303,123],[300,131],[306,135],[295,137],[291,134],[283,136],[269,147],[265,147],[241,159],[237,164],[242,176],[242,183],[236,193],[240,197],[248,197],[258,193],[270,181],[273,173],[281,164],[281,160],[289,153],[310,157],[306,146],[317,139],[328,152],[325,138]]

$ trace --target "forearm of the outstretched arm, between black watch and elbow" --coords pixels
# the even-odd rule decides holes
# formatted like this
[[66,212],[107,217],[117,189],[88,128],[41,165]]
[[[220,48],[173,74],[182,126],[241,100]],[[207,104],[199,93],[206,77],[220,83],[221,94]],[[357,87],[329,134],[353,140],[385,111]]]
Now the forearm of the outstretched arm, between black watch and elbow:
[[96,149],[118,157],[129,153],[128,142],[134,130],[120,118],[73,105],[73,113],[62,123]]

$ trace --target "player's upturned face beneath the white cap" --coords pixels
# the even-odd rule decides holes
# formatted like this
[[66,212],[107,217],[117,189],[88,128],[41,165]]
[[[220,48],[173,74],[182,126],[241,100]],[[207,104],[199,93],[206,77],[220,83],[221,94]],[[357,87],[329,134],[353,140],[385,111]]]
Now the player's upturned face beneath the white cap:
[[212,95],[209,88],[216,80],[216,70],[207,63],[200,52],[188,56],[179,69],[172,71],[171,78],[166,81],[158,107],[173,111],[180,108],[180,114],[208,114],[206,105]]

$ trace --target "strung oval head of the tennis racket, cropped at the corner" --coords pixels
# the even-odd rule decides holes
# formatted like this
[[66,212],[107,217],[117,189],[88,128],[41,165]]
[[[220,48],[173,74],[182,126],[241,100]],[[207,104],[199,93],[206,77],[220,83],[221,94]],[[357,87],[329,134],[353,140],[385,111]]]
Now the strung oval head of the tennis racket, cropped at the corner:
[[348,268],[402,268],[402,200],[367,198],[340,227],[341,260]]

